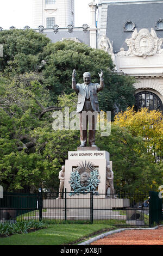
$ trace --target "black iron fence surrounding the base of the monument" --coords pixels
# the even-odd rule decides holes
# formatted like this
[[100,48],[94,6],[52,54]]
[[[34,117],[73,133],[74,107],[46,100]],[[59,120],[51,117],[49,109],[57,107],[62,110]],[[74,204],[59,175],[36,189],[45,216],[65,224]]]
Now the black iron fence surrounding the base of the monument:
[[[148,202],[144,204],[148,198],[149,194],[130,193],[111,194],[109,197],[102,193],[70,196],[70,193],[65,190],[62,193],[62,199],[59,199],[58,193],[55,192],[41,191],[35,194],[8,192],[4,193],[3,199],[0,199],[0,222],[47,220],[53,223],[66,221],[107,223],[117,226],[149,226],[152,222],[160,221],[160,214],[157,215],[159,218],[152,217],[155,216],[153,212],[156,209],[153,203],[148,207],[150,200],[149,204]],[[157,211],[162,214],[162,209],[157,208]]]

